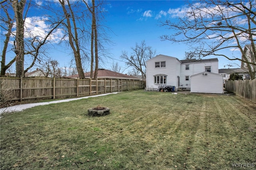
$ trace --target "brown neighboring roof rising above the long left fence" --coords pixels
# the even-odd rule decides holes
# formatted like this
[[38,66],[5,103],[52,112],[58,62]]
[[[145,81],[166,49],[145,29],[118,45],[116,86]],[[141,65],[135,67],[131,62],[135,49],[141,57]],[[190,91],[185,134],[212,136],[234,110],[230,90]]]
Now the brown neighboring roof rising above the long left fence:
[[[86,72],[84,73],[84,76],[86,78],[90,78],[90,72]],[[94,71],[93,71],[93,75],[94,75]],[[78,78],[78,74],[76,75],[70,75],[70,76],[67,76],[69,78]],[[130,75],[127,75],[127,74],[122,74],[122,73],[117,73],[117,72],[114,72],[114,71],[110,71],[110,70],[107,70],[107,69],[98,69],[98,78],[122,78],[122,79],[139,79],[137,77],[133,77],[133,76],[130,76]]]

